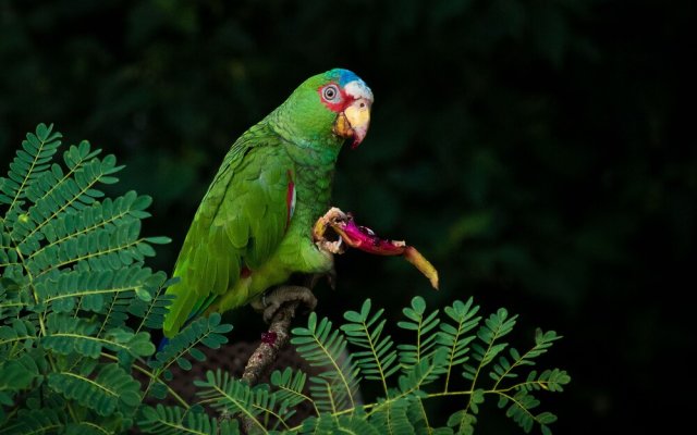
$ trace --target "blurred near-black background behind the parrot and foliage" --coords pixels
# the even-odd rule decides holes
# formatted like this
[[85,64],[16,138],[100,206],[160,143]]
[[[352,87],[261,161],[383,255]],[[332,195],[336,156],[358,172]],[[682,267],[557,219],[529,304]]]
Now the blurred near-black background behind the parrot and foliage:
[[[516,347],[565,336],[543,359],[573,376],[542,397],[557,433],[648,432],[687,417],[671,391],[694,385],[694,4],[0,0],[0,166],[39,122],[117,154],[112,191],[155,198],[145,232],[173,238],[152,261],[171,271],[232,141],[309,75],[353,70],[376,103],[334,204],[417,246],[442,286],[350,252],[318,311],[506,307]],[[231,338],[258,336],[237,315]],[[480,433],[518,433],[486,414]]]

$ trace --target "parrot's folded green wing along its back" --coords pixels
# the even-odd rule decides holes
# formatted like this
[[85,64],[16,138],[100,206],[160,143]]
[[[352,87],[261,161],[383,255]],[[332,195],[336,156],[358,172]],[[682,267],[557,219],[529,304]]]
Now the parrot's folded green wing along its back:
[[181,281],[167,290],[176,298],[164,318],[166,336],[203,313],[233,288],[243,269],[257,269],[280,244],[294,174],[281,140],[266,124],[257,124],[225,156],[174,266]]

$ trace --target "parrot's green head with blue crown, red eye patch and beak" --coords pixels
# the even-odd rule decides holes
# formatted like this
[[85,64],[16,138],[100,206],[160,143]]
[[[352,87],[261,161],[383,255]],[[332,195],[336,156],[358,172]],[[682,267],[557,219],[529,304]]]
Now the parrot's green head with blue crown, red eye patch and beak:
[[372,91],[356,74],[334,69],[305,80],[284,105],[306,139],[351,139],[355,148],[368,133]]

